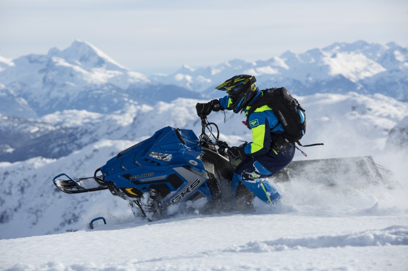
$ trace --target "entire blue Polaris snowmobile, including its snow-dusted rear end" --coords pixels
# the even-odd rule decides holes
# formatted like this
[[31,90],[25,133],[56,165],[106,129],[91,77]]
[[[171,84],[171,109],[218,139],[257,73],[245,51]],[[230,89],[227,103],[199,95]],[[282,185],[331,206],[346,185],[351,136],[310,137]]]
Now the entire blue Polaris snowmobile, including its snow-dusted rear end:
[[[62,173],[53,182],[68,194],[107,189],[128,201],[136,216],[148,220],[159,219],[169,206],[181,203],[194,207],[195,202],[204,202],[208,209],[216,210],[217,205],[219,210],[226,209],[225,203],[231,197],[227,195],[228,182],[240,161],[228,157],[228,144],[218,138],[217,125],[206,118],[202,119],[199,137],[192,130],[165,127],[119,152],[98,168],[93,177],[73,179]],[[60,179],[63,176],[65,179]],[[391,171],[366,156],[292,161],[269,181],[300,179],[327,186],[339,182],[352,186],[362,181],[364,186],[382,184],[393,189],[398,182],[392,177]],[[237,193],[239,197],[235,195],[234,205],[240,205],[237,208],[240,210],[255,198],[242,183]]]

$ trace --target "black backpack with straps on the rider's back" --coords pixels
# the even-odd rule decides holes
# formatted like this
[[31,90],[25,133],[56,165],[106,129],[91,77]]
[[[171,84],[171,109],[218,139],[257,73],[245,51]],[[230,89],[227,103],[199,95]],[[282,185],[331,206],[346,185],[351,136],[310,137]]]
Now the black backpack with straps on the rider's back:
[[[279,88],[268,88],[262,90],[262,97],[257,100],[248,111],[247,114],[247,123],[249,116],[259,107],[268,105],[272,108],[278,117],[279,123],[282,124],[285,129],[285,133],[282,135],[290,142],[296,142],[301,146],[314,146],[314,145],[323,145],[311,144],[311,145],[302,145],[300,139],[306,133],[306,113],[305,109],[299,104],[285,87]],[[278,126],[279,123],[276,125]],[[273,130],[273,127],[271,130]]]

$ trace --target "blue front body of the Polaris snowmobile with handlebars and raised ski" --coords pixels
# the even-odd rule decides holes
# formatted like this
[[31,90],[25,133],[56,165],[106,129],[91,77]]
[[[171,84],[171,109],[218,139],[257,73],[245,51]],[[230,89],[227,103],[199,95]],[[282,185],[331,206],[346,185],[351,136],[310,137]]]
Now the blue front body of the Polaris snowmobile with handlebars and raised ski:
[[[192,130],[165,127],[119,152],[98,168],[94,177],[73,179],[62,173],[53,182],[68,194],[108,189],[128,201],[135,215],[149,220],[159,218],[172,204],[200,200],[210,206],[230,200],[222,187],[229,187],[227,183],[239,161],[230,162],[228,145],[218,139],[216,124],[203,118],[202,128],[198,138]],[[65,180],[60,179],[62,176]],[[238,192],[247,204],[255,197],[243,184]]]

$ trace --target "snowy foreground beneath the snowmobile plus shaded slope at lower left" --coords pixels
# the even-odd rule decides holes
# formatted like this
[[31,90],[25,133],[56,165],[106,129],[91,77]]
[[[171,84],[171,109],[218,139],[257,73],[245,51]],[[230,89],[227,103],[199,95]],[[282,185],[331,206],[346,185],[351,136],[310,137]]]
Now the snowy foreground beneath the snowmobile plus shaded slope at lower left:
[[[53,187],[52,174],[69,168],[85,175],[133,143],[103,140],[58,160],[1,163],[8,185],[0,195],[12,196],[6,206],[17,212],[0,232],[69,232],[0,240],[0,270],[406,270],[406,179],[405,190],[281,183],[279,205],[256,202],[256,212],[178,214],[156,222],[135,218],[107,191],[67,195]],[[87,227],[101,215],[106,225]]]

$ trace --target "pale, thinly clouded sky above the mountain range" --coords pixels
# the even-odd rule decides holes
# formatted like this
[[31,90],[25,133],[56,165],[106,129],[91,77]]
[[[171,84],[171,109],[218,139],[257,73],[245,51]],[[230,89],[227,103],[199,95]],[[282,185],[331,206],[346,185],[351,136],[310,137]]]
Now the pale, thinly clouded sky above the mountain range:
[[303,53],[334,42],[408,46],[406,0],[0,0],[0,56],[87,41],[145,74]]

